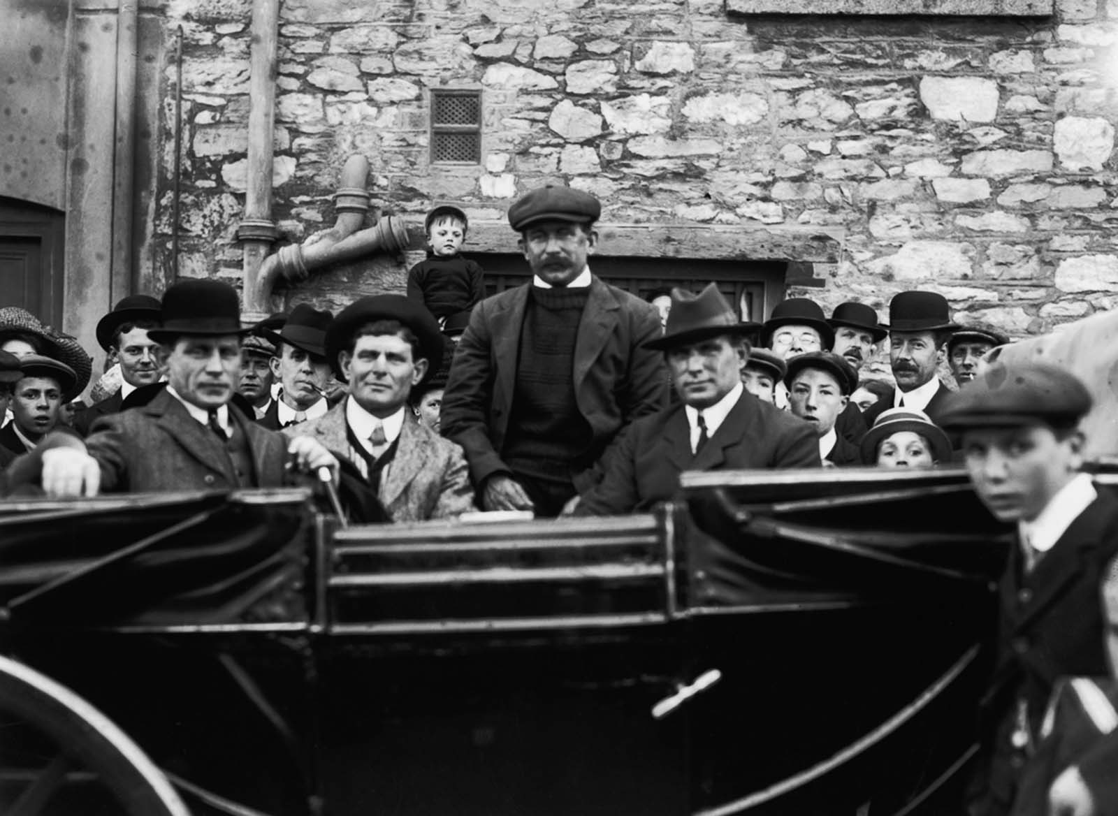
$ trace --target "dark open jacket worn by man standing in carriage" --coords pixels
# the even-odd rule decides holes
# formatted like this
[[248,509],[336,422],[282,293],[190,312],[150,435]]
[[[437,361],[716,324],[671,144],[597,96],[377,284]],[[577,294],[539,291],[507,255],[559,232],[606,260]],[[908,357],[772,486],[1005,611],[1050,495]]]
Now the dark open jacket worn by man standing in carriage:
[[[443,393],[443,436],[462,446],[479,487],[493,474],[511,472],[501,453],[531,285],[474,306]],[[643,345],[662,331],[651,304],[591,276],[571,361],[575,402],[593,435],[586,461],[572,468],[572,482],[580,492],[600,480],[597,465],[618,433],[666,405],[663,354]]]

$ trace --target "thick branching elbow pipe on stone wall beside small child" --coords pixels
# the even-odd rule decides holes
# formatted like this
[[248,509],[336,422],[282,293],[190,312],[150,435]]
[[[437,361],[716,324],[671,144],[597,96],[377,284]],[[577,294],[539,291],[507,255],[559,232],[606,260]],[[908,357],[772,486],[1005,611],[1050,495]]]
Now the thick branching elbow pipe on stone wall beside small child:
[[256,322],[268,315],[272,290],[281,276],[299,282],[314,269],[378,252],[399,252],[409,245],[407,226],[399,218],[386,216],[372,227],[360,229],[369,211],[368,175],[369,161],[363,155],[351,155],[345,161],[341,186],[334,193],[338,221],[331,229],[312,235],[302,244],[281,247],[280,252],[265,258],[252,286],[245,278],[243,321]]

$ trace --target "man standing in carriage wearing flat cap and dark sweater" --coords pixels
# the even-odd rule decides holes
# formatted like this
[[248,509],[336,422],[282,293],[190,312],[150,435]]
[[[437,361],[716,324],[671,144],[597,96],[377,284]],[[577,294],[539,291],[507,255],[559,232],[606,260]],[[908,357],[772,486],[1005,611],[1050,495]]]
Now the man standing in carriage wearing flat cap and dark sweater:
[[509,209],[532,281],[474,306],[443,395],[442,431],[466,453],[485,510],[557,515],[603,454],[666,398],[656,310],[590,273],[601,207],[567,187]]

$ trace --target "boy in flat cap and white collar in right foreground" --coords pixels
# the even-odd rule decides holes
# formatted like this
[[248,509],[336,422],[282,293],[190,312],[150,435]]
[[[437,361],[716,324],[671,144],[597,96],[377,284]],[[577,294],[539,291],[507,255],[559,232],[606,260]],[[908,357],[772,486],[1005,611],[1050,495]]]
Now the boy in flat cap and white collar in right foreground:
[[[939,424],[960,437],[978,497],[1017,532],[998,585],[997,648],[969,791],[975,816],[1013,809],[1055,680],[1107,675],[1118,658],[1118,500],[1080,471],[1079,426],[1090,407],[1087,388],[1063,369],[994,363],[940,412]],[[1088,782],[1115,776],[1106,767],[1069,772]]]

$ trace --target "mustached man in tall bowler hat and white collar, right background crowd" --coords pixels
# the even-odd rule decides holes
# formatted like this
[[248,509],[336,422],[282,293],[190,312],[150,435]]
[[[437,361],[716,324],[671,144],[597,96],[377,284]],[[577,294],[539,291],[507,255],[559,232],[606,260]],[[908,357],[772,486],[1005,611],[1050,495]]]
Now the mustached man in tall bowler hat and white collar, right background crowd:
[[936,292],[901,292],[889,302],[889,364],[897,387],[865,411],[872,426],[889,408],[916,408],[936,421],[950,393],[936,371],[947,355],[947,340],[958,326],[947,300]]

